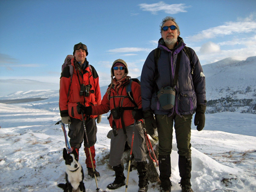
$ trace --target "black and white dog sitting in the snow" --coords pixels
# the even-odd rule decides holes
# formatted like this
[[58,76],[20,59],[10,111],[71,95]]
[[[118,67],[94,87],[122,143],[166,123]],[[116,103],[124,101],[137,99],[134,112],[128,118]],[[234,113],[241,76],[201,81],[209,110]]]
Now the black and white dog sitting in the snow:
[[63,149],[63,159],[66,164],[66,184],[60,183],[58,187],[64,192],[85,192],[84,187],[84,170],[78,162],[78,154],[75,150],[67,153],[67,149]]

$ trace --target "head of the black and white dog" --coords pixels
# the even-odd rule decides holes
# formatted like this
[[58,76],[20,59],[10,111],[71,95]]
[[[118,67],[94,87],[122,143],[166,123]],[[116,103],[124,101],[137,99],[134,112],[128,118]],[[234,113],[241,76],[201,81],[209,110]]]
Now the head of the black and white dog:
[[67,149],[63,148],[63,159],[70,171],[75,171],[79,168],[78,154],[75,150],[73,150],[72,153],[67,153]]

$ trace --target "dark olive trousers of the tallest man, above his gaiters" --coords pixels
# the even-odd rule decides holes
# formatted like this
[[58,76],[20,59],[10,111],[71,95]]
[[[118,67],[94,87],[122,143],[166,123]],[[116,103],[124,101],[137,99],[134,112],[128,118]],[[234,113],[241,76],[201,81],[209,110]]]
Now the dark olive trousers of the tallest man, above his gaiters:
[[176,134],[178,154],[181,156],[191,155],[191,121],[193,115],[180,117],[176,113],[167,115],[155,115],[158,126],[159,155],[170,155],[172,152],[173,122]]

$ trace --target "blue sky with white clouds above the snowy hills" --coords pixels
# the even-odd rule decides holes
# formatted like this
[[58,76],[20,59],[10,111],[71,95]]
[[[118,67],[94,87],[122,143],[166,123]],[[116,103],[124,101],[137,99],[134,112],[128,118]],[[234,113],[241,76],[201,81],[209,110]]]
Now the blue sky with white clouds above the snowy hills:
[[59,83],[73,46],[88,46],[88,61],[110,83],[110,66],[123,59],[141,75],[165,16],[202,65],[256,56],[256,1],[0,1],[0,79]]

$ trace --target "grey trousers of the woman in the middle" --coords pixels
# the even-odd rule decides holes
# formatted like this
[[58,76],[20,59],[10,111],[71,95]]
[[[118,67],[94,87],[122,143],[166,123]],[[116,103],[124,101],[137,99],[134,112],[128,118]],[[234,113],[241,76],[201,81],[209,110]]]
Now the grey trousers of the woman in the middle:
[[[109,154],[109,165],[118,166],[121,164],[121,159],[125,149],[126,141],[130,144],[132,142],[132,132],[133,125],[127,126],[126,135],[123,129],[118,130],[118,135],[111,136],[110,142],[110,154]],[[135,157],[136,162],[146,161],[146,151],[145,151],[145,136],[142,129],[141,123],[135,125],[135,134],[133,139],[132,153]]]

